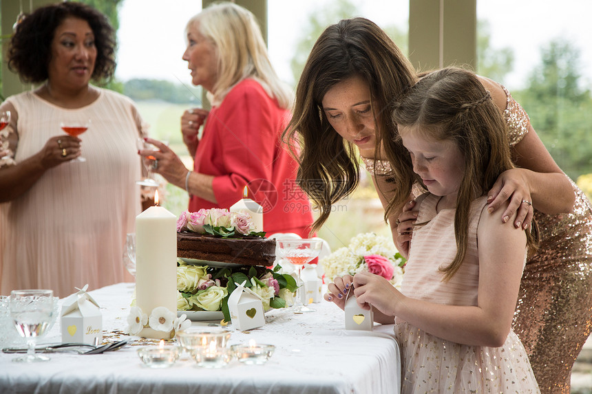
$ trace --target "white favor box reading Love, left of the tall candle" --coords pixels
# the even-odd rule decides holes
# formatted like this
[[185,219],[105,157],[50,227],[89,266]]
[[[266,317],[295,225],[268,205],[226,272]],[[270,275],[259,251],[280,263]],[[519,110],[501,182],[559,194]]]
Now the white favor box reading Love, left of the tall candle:
[[62,342],[101,344],[103,315],[98,303],[86,292],[88,285],[65,298],[61,311]]

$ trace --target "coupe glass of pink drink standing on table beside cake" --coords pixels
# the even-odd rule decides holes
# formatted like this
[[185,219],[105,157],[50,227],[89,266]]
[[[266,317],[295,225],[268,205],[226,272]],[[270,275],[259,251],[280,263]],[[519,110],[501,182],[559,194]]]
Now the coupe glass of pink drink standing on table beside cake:
[[291,308],[295,314],[302,314],[304,312],[313,312],[315,309],[306,307],[302,304],[300,292],[302,291],[302,281],[300,279],[300,270],[302,266],[313,261],[315,257],[319,256],[323,248],[322,239],[276,239],[275,245],[277,253],[283,257],[288,263],[294,265],[296,272],[296,299]]

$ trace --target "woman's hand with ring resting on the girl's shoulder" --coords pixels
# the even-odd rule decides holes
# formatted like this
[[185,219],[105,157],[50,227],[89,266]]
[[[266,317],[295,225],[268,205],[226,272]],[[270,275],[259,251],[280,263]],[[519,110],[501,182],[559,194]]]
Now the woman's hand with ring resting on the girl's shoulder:
[[[502,221],[506,223],[514,219],[514,226],[526,230],[532,221],[534,210],[532,208],[532,197],[527,177],[524,176],[523,168],[512,168],[504,171],[496,180],[494,186],[487,193],[489,213],[497,210],[505,201],[509,204],[502,215]],[[514,216],[516,213],[516,216]]]

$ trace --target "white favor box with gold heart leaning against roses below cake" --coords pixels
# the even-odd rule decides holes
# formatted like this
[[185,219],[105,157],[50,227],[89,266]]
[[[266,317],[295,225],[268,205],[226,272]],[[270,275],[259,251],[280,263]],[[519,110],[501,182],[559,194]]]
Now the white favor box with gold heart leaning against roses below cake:
[[240,285],[235,283],[237,287],[228,298],[228,310],[232,325],[240,331],[265,325],[261,297],[249,287],[244,287],[245,283]]

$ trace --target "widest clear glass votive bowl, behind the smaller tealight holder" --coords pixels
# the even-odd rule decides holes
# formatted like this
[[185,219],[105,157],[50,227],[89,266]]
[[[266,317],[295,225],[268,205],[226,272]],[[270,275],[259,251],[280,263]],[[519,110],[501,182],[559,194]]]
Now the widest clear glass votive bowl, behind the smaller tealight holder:
[[231,331],[220,327],[189,327],[178,331],[176,338],[184,351],[196,357],[199,351],[208,349],[210,353],[228,347]]

